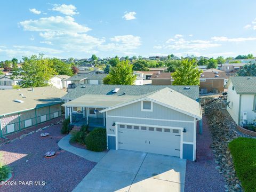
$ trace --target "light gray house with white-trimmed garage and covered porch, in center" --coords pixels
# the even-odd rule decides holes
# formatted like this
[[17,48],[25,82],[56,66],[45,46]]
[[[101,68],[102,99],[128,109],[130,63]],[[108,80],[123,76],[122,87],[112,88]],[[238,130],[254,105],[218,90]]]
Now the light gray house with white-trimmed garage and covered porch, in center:
[[196,159],[198,86],[86,85],[67,93],[70,124],[105,127],[108,149]]

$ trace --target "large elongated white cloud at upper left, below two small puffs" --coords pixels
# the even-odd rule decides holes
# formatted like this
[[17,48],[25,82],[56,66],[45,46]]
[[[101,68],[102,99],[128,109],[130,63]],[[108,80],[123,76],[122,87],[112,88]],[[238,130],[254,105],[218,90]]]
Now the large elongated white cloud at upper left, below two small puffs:
[[66,17],[48,17],[38,20],[26,20],[19,22],[24,30],[29,31],[74,31],[77,33],[85,33],[91,30],[89,27],[79,25],[75,19]]

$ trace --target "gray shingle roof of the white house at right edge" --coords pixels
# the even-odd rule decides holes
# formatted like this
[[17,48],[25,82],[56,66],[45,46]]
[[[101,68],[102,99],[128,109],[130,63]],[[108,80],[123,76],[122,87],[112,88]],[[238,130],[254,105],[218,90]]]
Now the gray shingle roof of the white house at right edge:
[[256,94],[256,77],[230,77],[236,93]]

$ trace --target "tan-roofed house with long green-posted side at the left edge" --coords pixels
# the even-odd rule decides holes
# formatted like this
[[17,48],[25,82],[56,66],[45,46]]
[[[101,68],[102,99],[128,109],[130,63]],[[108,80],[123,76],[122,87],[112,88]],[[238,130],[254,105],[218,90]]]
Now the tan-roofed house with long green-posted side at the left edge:
[[50,86],[0,90],[1,137],[61,116],[65,94]]

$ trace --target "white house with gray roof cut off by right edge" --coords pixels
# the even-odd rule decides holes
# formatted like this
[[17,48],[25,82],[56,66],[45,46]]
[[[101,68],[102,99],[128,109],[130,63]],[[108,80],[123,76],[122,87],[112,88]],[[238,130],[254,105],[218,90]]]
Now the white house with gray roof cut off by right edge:
[[256,77],[230,77],[227,111],[238,125],[256,119]]

